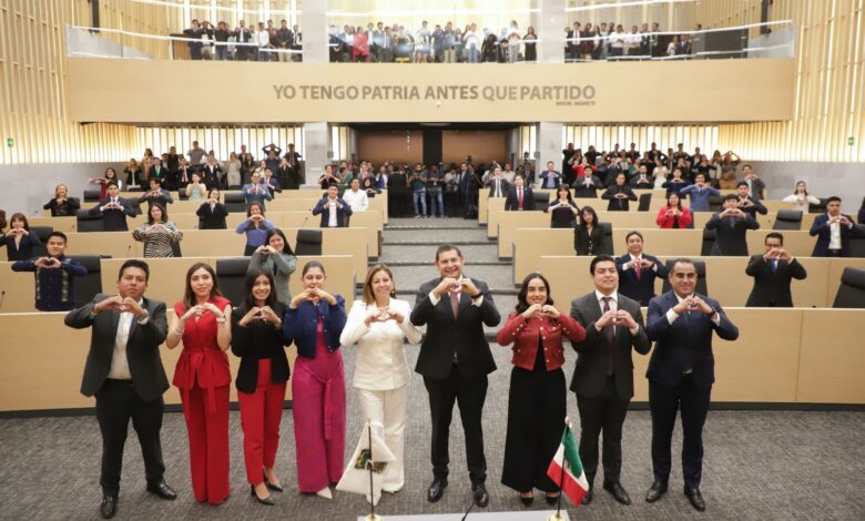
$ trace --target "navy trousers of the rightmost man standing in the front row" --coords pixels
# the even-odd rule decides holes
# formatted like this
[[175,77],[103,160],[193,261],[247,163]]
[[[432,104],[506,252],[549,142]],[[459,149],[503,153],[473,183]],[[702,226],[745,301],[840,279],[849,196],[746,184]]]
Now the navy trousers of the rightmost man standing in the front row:
[[666,483],[672,466],[670,442],[678,410],[682,410],[682,476],[688,487],[700,487],[703,472],[703,425],[709,413],[712,388],[699,388],[684,375],[675,387],[649,380],[652,413],[652,468],[654,479]]

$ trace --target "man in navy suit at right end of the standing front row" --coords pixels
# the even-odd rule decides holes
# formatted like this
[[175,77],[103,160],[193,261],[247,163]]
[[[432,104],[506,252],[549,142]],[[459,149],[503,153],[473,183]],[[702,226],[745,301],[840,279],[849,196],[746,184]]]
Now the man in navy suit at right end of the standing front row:
[[679,258],[670,273],[672,289],[649,302],[645,327],[654,351],[649,360],[649,409],[652,415],[652,469],[654,482],[645,501],[658,501],[666,492],[672,459],[670,442],[675,417],[682,410],[682,476],[691,505],[705,510],[700,493],[703,471],[703,425],[715,381],[712,336],[739,338],[739,328],[721,305],[694,293],[696,268]]

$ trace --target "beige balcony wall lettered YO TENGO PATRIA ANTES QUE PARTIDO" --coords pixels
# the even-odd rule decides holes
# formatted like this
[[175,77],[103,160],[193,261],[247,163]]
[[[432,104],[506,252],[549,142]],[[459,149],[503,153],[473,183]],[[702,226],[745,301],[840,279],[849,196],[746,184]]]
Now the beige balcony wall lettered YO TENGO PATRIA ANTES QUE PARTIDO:
[[[69,109],[75,121],[739,122],[793,116],[795,61],[694,60],[579,67],[537,63],[531,74],[523,75],[508,74],[511,69],[507,64],[485,65],[485,73],[467,73],[477,71],[477,67],[370,63],[348,85],[336,84],[334,73],[338,67],[350,65],[330,63],[275,68],[271,63],[253,62],[77,58],[69,59],[68,65]],[[174,81],[118,82],[118,78],[128,76],[173,78]],[[221,81],[210,82],[202,89],[200,79],[211,76]],[[508,81],[502,81],[506,76]],[[729,82],[720,89],[712,81],[671,82],[671,76],[747,78],[749,81]],[[262,81],[250,82],[248,78]],[[622,81],[622,78],[633,80]],[[640,86],[639,95],[635,83]],[[344,99],[316,99],[311,85],[356,89],[357,96],[352,99],[349,93],[354,91],[347,90]],[[395,91],[387,95],[385,89],[389,86],[403,88],[403,98],[398,99]],[[450,90],[451,86],[455,89]],[[542,95],[542,89],[548,86],[561,88],[560,95],[550,91],[550,96],[541,101],[532,98],[535,88]],[[448,90],[440,93],[436,88]],[[582,89],[580,96],[573,92],[573,98],[566,99],[563,92],[574,88]],[[418,99],[411,98],[413,89],[417,89]],[[141,103],[142,99],[155,99],[160,103]],[[214,110],[215,106],[220,110]]]

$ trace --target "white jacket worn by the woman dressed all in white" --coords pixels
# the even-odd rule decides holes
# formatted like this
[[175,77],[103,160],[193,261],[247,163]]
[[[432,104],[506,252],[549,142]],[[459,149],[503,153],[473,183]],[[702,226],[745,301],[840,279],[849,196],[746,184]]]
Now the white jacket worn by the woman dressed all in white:
[[420,341],[421,333],[411,320],[411,306],[405,300],[391,298],[388,307],[403,315],[403,324],[395,319],[364,324],[376,311],[375,303],[367,305],[355,300],[339,336],[344,347],[357,345],[357,361],[353,385],[358,389],[390,390],[408,384],[410,376],[403,339],[410,344]]

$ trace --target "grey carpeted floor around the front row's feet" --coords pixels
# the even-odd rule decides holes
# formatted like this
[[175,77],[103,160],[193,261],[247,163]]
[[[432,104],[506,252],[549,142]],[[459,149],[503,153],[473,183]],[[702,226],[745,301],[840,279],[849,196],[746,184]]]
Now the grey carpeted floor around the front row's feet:
[[[417,347],[408,346],[407,349],[414,365]],[[516,493],[500,483],[509,350],[499,346],[492,346],[492,349],[499,370],[490,376],[484,416],[489,464],[487,484],[491,496],[486,511],[521,510],[523,507]],[[350,386],[354,354],[348,349],[345,359]],[[572,368],[573,357],[570,357],[566,365],[569,380]],[[347,445],[350,450],[362,426],[350,387],[348,403]],[[570,392],[568,410],[576,419],[577,403]],[[444,499],[431,504],[426,501],[426,488],[431,479],[429,408],[419,376],[410,381],[408,411],[406,487],[395,496],[385,494],[379,512],[386,515],[464,511],[470,503],[470,490],[459,422],[455,420],[451,427],[450,486]],[[455,413],[455,418],[458,415]],[[144,491],[140,449],[134,432],[130,431],[118,519],[349,520],[356,514],[367,513],[368,507],[360,496],[335,492],[333,501],[301,496],[294,479],[291,410],[285,411],[282,432],[276,467],[287,490],[275,494],[275,507],[260,505],[250,497],[243,470],[240,417],[236,411],[232,412],[232,496],[222,505],[207,507],[196,503],[192,497],[186,430],[181,413],[166,413],[162,429],[167,467],[165,478],[180,494],[176,501],[162,501]],[[571,519],[865,519],[865,500],[862,497],[865,476],[863,432],[863,412],[712,411],[705,429],[702,486],[708,509],[699,514],[681,492],[681,467],[678,467],[681,430],[674,436],[675,463],[670,492],[658,503],[643,501],[642,497],[652,481],[649,456],[651,423],[648,411],[631,411],[624,425],[622,484],[631,493],[633,504],[619,505],[599,487],[591,505],[574,509],[569,504],[569,513]],[[0,519],[99,517],[100,437],[95,418],[4,419],[0,420]],[[600,479],[599,476],[599,486]],[[545,508],[546,503],[540,500],[533,505],[538,510]]]

